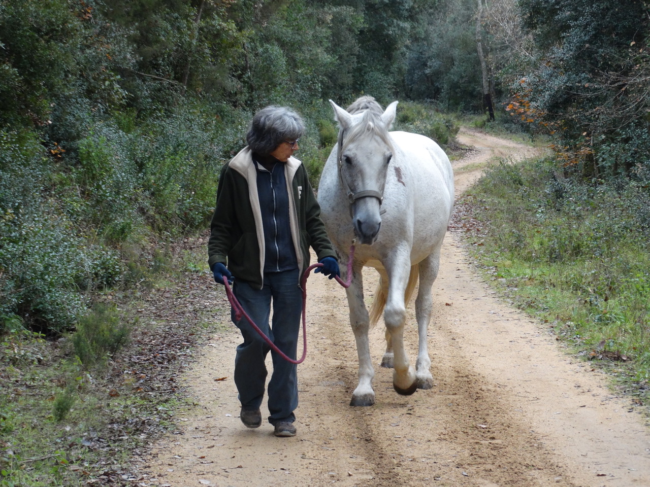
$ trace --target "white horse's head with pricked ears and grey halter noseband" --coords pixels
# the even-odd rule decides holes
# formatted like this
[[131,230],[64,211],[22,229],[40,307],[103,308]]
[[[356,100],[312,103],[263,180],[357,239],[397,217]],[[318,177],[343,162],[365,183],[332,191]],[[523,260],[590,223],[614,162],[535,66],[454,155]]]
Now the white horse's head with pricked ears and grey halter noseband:
[[397,102],[385,111],[371,97],[362,97],[344,110],[330,100],[339,123],[339,175],[350,201],[350,216],[359,243],[377,240],[386,174],[393,157],[389,129]]

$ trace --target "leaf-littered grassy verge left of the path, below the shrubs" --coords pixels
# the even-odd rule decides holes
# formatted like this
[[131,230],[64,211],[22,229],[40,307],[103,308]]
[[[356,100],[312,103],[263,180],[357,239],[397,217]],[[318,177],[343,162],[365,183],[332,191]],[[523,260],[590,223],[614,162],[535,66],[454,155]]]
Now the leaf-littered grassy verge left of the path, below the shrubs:
[[183,371],[227,322],[205,303],[204,251],[200,238],[170,246],[164,266],[103,292],[56,340],[3,335],[0,486],[142,484],[148,445],[192,405]]

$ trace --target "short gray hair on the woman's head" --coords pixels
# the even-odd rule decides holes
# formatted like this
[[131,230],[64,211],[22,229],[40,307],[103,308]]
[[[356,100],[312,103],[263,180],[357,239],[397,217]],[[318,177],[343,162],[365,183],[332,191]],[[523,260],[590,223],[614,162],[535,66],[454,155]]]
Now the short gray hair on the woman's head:
[[248,147],[259,155],[269,155],[283,140],[296,140],[305,124],[296,112],[285,106],[270,105],[253,116],[246,134]]

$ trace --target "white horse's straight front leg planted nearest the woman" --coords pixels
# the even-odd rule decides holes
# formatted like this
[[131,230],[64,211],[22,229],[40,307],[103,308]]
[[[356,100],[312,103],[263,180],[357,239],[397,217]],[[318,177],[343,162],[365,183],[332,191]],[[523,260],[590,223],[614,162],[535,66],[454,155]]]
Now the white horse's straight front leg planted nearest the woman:
[[374,390],[372,390],[374,368],[372,368],[372,360],[370,360],[370,343],[368,340],[370,319],[363,302],[361,266],[354,266],[352,283],[346,293],[348,306],[350,306],[350,325],[357,343],[357,357],[359,359],[359,384],[352,393],[350,406],[372,406],[374,405]]

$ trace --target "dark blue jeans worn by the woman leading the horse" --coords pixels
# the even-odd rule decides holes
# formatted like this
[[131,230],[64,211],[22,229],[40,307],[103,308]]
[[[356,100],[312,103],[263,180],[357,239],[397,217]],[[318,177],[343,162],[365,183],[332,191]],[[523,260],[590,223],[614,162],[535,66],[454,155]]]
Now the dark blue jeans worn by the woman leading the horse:
[[[298,282],[298,269],[294,269],[265,273],[261,290],[236,279],[233,285],[233,293],[246,314],[278,349],[294,360],[302,316],[302,290]],[[273,321],[269,327],[271,304]],[[255,410],[261,405],[267,375],[265,358],[271,351],[273,371],[268,382],[268,422],[272,425],[279,421],[293,422],[296,419],[293,411],[298,406],[296,364],[272,351],[244,316],[237,321],[232,312],[231,318],[244,338],[235,355],[235,385],[242,408]]]

